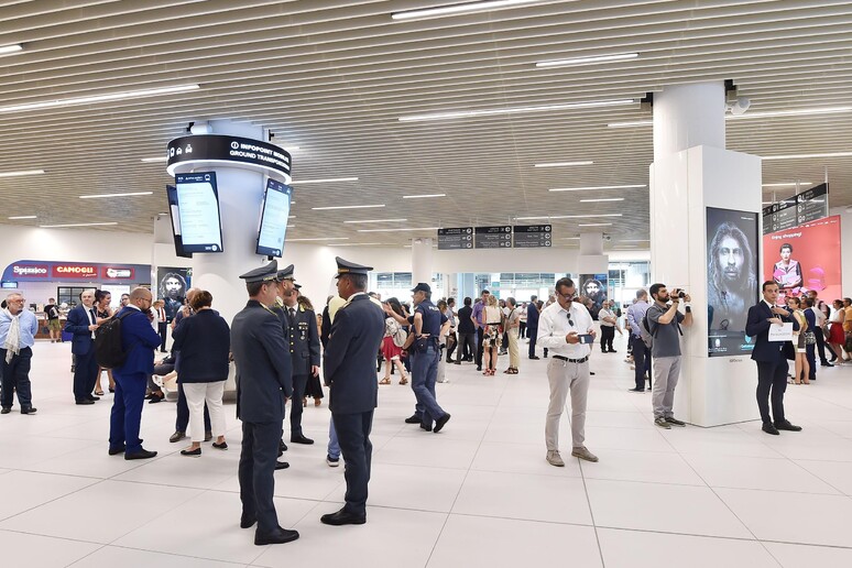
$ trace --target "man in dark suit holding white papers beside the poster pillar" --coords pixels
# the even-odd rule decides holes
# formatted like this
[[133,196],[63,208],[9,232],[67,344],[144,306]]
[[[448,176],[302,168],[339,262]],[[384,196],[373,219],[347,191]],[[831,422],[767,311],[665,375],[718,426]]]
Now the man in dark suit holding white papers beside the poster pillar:
[[[787,390],[787,358],[784,353],[785,341],[769,341],[769,326],[780,326],[793,323],[794,329],[799,328],[790,313],[775,305],[778,299],[778,284],[775,281],[763,283],[763,302],[749,308],[749,319],[745,334],[756,338],[752,359],[757,363],[757,407],[761,411],[763,432],[777,436],[778,430],[799,432],[801,426],[795,426],[784,416],[784,391]],[[789,342],[789,341],[787,341]],[[769,398],[772,397],[772,416],[769,417]]]

